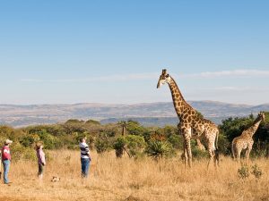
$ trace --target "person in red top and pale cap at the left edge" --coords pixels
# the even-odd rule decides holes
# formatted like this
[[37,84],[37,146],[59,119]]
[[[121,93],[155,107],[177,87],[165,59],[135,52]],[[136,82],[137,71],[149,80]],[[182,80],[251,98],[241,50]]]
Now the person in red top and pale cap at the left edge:
[[4,166],[4,184],[9,184],[8,180],[8,172],[10,168],[10,162],[11,162],[11,154],[10,154],[10,148],[9,146],[13,143],[12,140],[6,139],[4,141],[4,147],[2,148],[2,163]]

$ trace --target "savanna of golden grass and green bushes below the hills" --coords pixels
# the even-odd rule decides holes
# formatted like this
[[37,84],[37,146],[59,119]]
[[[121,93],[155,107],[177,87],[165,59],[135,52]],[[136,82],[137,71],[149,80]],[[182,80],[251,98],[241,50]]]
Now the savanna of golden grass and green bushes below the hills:
[[[208,154],[195,140],[194,165],[186,167],[180,158],[183,138],[175,126],[143,127],[136,121],[102,125],[91,120],[21,129],[2,126],[1,143],[13,139],[13,183],[1,184],[0,200],[268,200],[268,118],[254,136],[250,160],[237,163],[231,158],[231,139],[254,120],[249,115],[222,121],[220,165],[209,169]],[[81,178],[82,136],[91,147],[87,180]],[[44,142],[48,159],[42,181],[33,148],[37,141]],[[60,180],[52,182],[53,176]]]

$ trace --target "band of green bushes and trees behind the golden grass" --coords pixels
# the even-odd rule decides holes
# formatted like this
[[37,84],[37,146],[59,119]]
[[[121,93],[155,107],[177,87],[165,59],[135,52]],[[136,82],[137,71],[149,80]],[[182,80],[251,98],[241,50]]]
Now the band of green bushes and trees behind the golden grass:
[[[218,146],[222,155],[230,155],[232,139],[239,136],[254,120],[255,117],[250,114],[248,117],[228,118],[221,122]],[[60,124],[20,129],[0,126],[0,143],[3,145],[5,138],[13,140],[11,149],[14,160],[35,158],[34,146],[39,141],[44,143],[45,149],[78,149],[78,141],[82,137],[87,137],[91,149],[96,149],[98,153],[115,149],[118,157],[124,153],[130,157],[172,157],[183,150],[183,138],[178,133],[177,125],[145,127],[134,120],[107,124],[93,120],[68,120]],[[268,157],[269,113],[266,113],[265,122],[260,124],[254,139],[251,157]],[[192,140],[192,150],[196,159],[208,156],[196,147],[195,140]]]

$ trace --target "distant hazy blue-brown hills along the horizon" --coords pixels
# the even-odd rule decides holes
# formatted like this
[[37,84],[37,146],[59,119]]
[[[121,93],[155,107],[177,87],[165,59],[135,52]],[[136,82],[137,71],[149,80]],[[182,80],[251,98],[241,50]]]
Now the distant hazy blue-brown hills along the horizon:
[[[188,101],[204,117],[220,123],[228,117],[269,111],[265,105],[233,105],[214,101]],[[0,105],[0,124],[22,127],[63,122],[68,119],[97,120],[101,123],[132,119],[145,126],[176,125],[178,118],[172,102],[136,105]]]

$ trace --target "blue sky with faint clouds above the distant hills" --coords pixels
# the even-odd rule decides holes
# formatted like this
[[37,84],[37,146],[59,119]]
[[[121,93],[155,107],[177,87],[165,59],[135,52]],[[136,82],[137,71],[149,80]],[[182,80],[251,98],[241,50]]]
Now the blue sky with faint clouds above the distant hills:
[[0,104],[269,103],[268,1],[0,1]]

